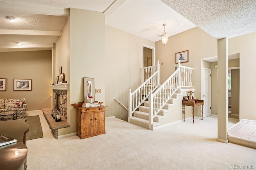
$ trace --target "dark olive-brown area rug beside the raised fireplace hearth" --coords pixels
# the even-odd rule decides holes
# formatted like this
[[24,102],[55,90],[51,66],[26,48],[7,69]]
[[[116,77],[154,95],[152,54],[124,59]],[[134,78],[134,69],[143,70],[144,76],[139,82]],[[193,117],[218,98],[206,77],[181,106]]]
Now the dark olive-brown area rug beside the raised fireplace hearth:
[[43,131],[42,131],[39,115],[28,116],[26,117],[26,119],[27,119],[26,123],[29,125],[27,140],[42,138]]

